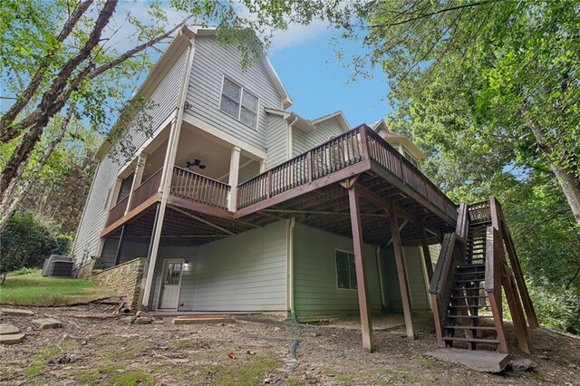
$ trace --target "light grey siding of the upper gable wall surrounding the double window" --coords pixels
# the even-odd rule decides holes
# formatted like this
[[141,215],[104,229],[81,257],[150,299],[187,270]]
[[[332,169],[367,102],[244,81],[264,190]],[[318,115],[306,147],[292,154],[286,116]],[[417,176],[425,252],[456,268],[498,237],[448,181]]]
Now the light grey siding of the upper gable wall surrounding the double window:
[[[237,140],[266,151],[267,119],[264,109],[279,109],[281,98],[264,64],[258,62],[243,70],[236,45],[222,45],[215,36],[197,36],[195,50],[189,77],[187,112]],[[224,75],[238,85],[246,86],[259,98],[256,129],[219,110]]]

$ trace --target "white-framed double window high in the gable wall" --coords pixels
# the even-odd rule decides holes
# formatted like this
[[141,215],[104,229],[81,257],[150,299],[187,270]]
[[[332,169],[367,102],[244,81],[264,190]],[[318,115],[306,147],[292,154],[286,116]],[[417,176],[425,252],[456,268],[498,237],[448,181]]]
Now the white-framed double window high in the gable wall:
[[258,98],[226,76],[221,87],[219,110],[256,129]]

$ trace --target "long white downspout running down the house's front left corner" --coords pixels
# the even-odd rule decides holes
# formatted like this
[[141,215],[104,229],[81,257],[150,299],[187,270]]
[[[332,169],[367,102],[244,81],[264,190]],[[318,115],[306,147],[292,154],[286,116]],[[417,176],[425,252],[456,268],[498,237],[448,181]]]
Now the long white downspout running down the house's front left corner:
[[160,190],[159,194],[161,195],[161,200],[159,203],[159,213],[156,218],[156,229],[154,236],[151,240],[150,246],[150,254],[148,256],[149,260],[149,269],[147,272],[147,279],[145,282],[145,290],[143,294],[143,308],[150,309],[152,303],[152,295],[153,291],[152,286],[153,278],[155,275],[155,266],[157,265],[157,255],[159,253],[159,245],[160,245],[160,236],[161,236],[161,229],[163,227],[163,218],[165,217],[165,208],[167,207],[167,199],[169,196],[169,189],[171,187],[171,178],[173,177],[173,165],[175,163],[175,156],[179,144],[179,134],[181,132],[181,123],[183,122],[183,113],[185,110],[185,101],[188,92],[188,82],[189,82],[189,75],[191,72],[191,65],[193,63],[193,54],[195,53],[194,43],[189,37],[183,34],[183,28],[179,30],[179,35],[176,36],[176,39],[180,37],[183,39],[187,39],[189,42],[189,55],[188,55],[188,62],[186,63],[186,67],[183,73],[183,79],[181,81],[181,85],[179,87],[179,95],[178,95],[178,115],[176,117],[176,121],[174,126],[171,128],[171,132],[169,133],[169,140],[168,140],[168,151],[165,158],[165,162],[163,164],[163,172],[161,176],[161,183],[160,183]]

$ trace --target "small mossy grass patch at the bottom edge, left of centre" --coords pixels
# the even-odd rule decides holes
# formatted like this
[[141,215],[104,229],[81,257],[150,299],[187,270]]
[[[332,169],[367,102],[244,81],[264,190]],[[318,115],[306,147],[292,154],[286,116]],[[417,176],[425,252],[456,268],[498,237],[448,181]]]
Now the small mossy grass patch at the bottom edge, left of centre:
[[111,384],[114,386],[150,386],[156,379],[146,372],[126,370],[121,364],[106,364],[96,370],[82,372],[76,378],[82,385]]

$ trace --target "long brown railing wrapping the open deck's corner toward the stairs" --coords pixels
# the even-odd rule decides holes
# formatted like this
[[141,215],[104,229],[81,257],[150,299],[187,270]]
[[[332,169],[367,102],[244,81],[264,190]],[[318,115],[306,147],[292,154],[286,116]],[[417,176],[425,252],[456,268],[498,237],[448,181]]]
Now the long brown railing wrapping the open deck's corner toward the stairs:
[[324,142],[237,187],[237,208],[249,207],[365,159],[372,159],[447,216],[457,218],[456,205],[408,159],[366,125]]

